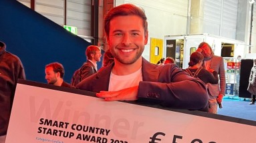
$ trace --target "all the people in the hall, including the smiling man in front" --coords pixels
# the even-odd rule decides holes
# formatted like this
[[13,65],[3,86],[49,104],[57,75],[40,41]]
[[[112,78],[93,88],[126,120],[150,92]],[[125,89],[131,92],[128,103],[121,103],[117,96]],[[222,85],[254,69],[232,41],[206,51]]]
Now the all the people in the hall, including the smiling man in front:
[[[225,95],[225,69],[223,58],[214,55],[208,43],[200,43],[190,55],[188,69],[180,69],[171,57],[156,64],[142,57],[148,43],[148,22],[143,9],[132,4],[112,8],[104,18],[104,29],[109,49],[101,69],[97,69],[101,49],[91,45],[86,49],[86,63],[74,72],[71,83],[63,80],[64,67],[57,62],[45,66],[47,83],[96,92],[106,101],[136,100],[217,114]],[[0,143],[7,133],[17,78],[25,79],[21,61],[5,51],[5,47],[0,42]],[[253,68],[251,80],[255,85],[256,67]],[[255,103],[255,86],[253,89],[251,104]]]

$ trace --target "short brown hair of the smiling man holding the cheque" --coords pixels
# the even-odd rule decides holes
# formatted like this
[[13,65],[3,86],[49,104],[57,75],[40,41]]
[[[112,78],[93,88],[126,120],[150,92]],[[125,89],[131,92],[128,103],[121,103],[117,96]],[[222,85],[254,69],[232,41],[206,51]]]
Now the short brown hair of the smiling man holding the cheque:
[[104,30],[107,37],[110,34],[110,21],[115,17],[128,15],[136,15],[140,17],[143,21],[144,33],[148,31],[148,22],[146,21],[147,18],[144,10],[140,7],[136,7],[135,5],[128,3],[124,5],[119,5],[118,7],[113,7],[104,17]]

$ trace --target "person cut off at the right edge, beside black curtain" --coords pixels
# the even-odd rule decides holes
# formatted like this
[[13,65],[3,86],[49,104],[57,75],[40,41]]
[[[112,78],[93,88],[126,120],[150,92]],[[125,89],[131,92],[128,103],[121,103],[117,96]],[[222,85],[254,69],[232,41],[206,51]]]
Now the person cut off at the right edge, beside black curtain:
[[256,59],[253,60],[254,66],[251,68],[251,74],[249,76],[249,86],[247,90],[251,93],[251,102],[249,104],[255,104],[256,95]]

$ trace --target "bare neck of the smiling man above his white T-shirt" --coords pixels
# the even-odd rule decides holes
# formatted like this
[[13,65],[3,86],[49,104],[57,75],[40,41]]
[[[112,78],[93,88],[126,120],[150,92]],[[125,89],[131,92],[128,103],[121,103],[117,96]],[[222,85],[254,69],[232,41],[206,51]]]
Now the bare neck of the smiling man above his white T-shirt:
[[142,67],[142,57],[130,65],[124,65],[115,59],[115,65],[112,69],[112,72],[116,75],[128,75],[138,71],[140,67]]

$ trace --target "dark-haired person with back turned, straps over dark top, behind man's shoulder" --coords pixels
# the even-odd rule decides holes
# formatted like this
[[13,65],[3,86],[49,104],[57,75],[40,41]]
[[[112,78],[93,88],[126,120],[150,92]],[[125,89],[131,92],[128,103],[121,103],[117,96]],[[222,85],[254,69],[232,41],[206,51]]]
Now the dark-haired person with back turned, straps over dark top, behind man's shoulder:
[[[196,78],[198,77],[203,82],[205,82],[205,84],[208,84],[208,83],[218,84],[219,83],[218,73],[212,69],[210,69],[209,71],[207,71],[206,69],[203,69],[203,60],[204,60],[204,56],[201,53],[199,52],[192,53],[190,55],[190,61],[188,63],[189,67],[187,69],[184,69],[184,71],[188,72],[190,76],[193,76]],[[208,92],[208,94],[209,94],[209,98],[213,98],[213,96],[211,96],[211,92]],[[212,111],[211,106],[209,106],[209,108],[205,108],[204,111],[211,112]]]

